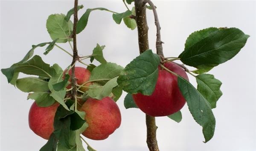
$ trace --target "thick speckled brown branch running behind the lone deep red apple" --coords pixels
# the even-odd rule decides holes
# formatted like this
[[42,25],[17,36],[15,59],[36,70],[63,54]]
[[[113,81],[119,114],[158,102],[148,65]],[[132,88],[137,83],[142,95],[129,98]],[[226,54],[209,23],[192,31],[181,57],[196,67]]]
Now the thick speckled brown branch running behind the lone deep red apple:
[[[138,29],[138,41],[140,53],[149,49],[148,46],[148,24],[146,18],[146,7],[144,0],[134,0],[135,12],[136,12],[136,23]],[[159,151],[157,145],[157,126],[155,123],[155,117],[146,115],[146,126],[147,126],[147,145],[149,151]]]

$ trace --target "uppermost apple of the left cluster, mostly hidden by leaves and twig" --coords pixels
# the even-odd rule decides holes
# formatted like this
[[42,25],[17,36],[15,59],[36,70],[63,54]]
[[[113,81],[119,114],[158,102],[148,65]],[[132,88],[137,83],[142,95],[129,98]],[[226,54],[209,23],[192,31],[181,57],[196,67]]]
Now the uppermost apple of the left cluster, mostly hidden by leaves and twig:
[[[66,73],[66,72],[64,72]],[[71,74],[72,74],[72,70],[70,69],[68,74],[70,75],[70,80],[71,81]],[[86,68],[84,67],[75,67],[75,76],[76,76],[76,79],[77,79],[77,84],[79,85],[82,85],[84,84],[85,82],[89,81],[89,78],[90,78],[90,71],[87,70]],[[63,76],[63,78],[65,78],[65,75]],[[91,82],[88,82],[87,84],[84,84],[84,86],[89,86],[90,84],[92,84]],[[70,89],[71,88],[71,85],[69,84],[67,86],[67,89]],[[88,88],[86,87],[81,87],[80,88],[81,91],[85,92],[88,90]]]

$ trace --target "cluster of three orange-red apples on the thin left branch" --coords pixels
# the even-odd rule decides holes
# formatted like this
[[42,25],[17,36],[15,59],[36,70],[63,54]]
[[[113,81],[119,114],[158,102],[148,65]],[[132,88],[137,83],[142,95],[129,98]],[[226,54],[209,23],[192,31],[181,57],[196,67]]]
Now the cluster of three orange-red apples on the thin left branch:
[[[71,75],[71,70],[68,73]],[[79,85],[84,84],[90,78],[90,71],[83,67],[75,68],[75,76]],[[87,83],[89,86],[91,83]],[[70,88],[71,86],[67,86]],[[81,87],[81,91],[87,91],[87,88]],[[121,114],[116,102],[110,97],[105,97],[102,100],[93,98],[87,101],[79,101],[80,111],[84,111],[85,120],[88,123],[88,128],[82,133],[85,137],[92,140],[104,140],[108,138],[121,124]],[[38,136],[49,139],[54,131],[54,116],[60,104],[54,103],[48,107],[39,107],[34,102],[29,110],[29,127]]]

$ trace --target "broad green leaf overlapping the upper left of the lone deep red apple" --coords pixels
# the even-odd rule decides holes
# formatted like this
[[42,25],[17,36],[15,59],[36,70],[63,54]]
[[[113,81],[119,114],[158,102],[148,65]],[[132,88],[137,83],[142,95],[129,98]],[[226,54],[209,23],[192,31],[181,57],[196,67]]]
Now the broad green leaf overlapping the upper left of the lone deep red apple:
[[159,64],[160,57],[146,50],[125,67],[117,83],[128,93],[151,95],[157,83]]

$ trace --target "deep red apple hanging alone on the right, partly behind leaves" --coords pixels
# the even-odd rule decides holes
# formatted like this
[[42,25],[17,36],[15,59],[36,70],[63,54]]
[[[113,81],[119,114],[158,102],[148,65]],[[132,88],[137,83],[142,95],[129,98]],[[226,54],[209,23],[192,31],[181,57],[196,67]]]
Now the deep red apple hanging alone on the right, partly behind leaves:
[[[164,64],[166,68],[189,80],[182,67],[173,62]],[[186,103],[177,84],[177,76],[158,67],[158,78],[154,92],[151,95],[137,93],[133,95],[134,102],[147,115],[167,116],[179,111]]]

